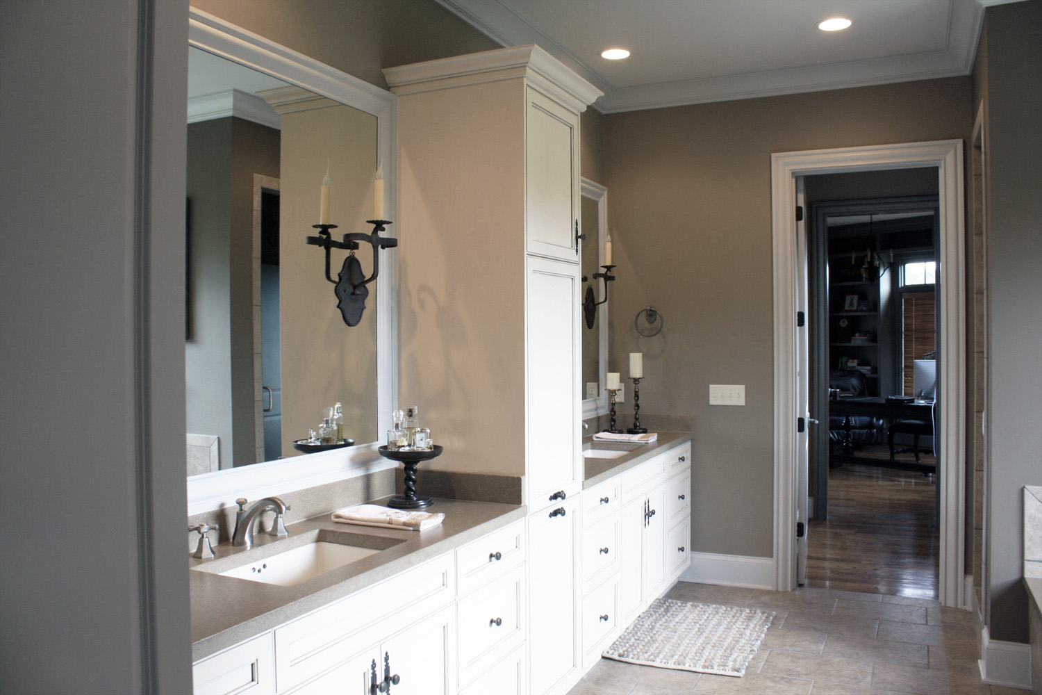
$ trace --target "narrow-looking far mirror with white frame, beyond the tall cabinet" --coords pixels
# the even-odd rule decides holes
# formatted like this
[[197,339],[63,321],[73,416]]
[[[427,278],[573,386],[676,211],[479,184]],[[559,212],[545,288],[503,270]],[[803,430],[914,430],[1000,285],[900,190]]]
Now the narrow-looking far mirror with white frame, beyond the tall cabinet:
[[[596,301],[604,299],[604,280],[595,279],[594,273],[602,272],[604,244],[607,241],[607,189],[588,178],[581,179],[581,225],[586,239],[580,256],[582,296],[592,290]],[[581,299],[581,298],[580,298]],[[607,413],[607,392],[604,379],[607,373],[607,307],[609,300],[597,306],[593,327],[582,323],[582,419]]]

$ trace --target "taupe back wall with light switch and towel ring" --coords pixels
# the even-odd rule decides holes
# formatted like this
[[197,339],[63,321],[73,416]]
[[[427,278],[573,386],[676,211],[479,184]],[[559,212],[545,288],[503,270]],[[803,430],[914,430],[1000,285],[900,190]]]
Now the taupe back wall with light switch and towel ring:
[[[609,369],[644,352],[642,414],[694,417],[695,551],[772,553],[771,153],[962,138],[970,103],[965,77],[603,117]],[[632,328],[648,305],[652,339]],[[746,405],[710,406],[710,383]]]

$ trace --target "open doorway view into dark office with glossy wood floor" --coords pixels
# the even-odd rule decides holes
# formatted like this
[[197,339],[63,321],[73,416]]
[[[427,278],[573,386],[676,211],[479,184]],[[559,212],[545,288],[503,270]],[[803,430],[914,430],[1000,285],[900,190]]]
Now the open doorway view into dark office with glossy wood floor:
[[936,168],[808,176],[805,585],[937,598]]

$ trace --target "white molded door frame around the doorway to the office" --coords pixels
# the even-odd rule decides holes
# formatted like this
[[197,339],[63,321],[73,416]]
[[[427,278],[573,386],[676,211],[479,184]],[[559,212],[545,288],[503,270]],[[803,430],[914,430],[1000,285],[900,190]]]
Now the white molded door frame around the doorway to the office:
[[[774,270],[774,588],[792,591],[796,540],[796,312],[798,257],[796,177],[816,174],[937,167],[940,193],[942,334],[938,374],[941,419],[941,557],[939,598],[965,604],[965,231],[963,142],[946,140],[771,155]],[[805,248],[805,245],[803,246]]]

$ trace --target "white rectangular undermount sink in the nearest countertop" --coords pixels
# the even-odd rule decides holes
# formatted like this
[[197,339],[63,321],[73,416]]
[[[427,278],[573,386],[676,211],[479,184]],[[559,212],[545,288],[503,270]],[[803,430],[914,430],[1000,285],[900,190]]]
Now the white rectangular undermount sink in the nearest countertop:
[[250,553],[253,560],[235,564],[228,569],[224,568],[228,563],[234,562],[234,556],[196,569],[237,579],[292,587],[401,543],[398,539],[330,530],[320,530],[317,533],[313,531],[309,536],[312,538],[302,545],[300,539],[296,539],[296,547],[282,552],[265,557]]

